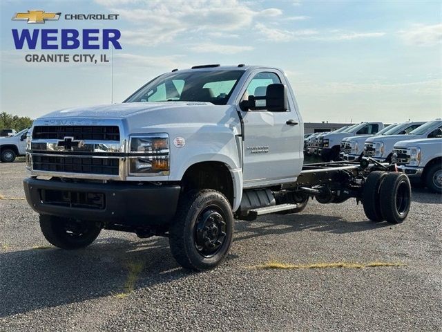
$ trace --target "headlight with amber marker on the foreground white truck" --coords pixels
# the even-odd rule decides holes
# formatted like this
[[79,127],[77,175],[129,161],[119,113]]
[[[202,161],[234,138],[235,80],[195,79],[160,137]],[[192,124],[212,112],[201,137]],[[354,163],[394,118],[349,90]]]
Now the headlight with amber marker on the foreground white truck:
[[169,136],[166,133],[131,136],[129,147],[129,175],[169,175]]

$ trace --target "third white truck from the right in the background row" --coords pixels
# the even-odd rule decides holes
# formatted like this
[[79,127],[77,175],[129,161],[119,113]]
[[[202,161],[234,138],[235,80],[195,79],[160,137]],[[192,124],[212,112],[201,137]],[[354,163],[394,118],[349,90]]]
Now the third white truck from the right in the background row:
[[381,137],[388,135],[405,135],[421,126],[425,122],[403,122],[401,124],[390,124],[376,135],[352,136],[341,140],[340,142],[340,159],[347,161],[358,160],[364,154],[364,143],[369,137]]

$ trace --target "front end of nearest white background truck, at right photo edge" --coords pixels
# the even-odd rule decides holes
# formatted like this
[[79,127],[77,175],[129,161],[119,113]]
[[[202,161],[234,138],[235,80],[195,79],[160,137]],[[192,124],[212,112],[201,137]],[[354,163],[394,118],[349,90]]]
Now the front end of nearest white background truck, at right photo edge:
[[439,138],[402,140],[393,148],[392,163],[412,182],[423,183],[432,192],[442,194],[442,129]]

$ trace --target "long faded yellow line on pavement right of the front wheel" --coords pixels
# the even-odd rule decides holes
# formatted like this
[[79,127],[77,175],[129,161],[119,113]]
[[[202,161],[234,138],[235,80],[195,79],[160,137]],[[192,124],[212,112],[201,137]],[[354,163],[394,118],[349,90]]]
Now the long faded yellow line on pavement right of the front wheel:
[[287,264],[280,261],[269,261],[264,264],[250,266],[251,269],[258,270],[271,270],[271,269],[282,269],[282,270],[295,270],[295,269],[306,269],[306,268],[378,268],[381,266],[405,266],[403,263],[389,263],[383,261],[372,261],[370,263],[352,263],[352,262],[332,262],[332,263],[314,263],[314,264]]

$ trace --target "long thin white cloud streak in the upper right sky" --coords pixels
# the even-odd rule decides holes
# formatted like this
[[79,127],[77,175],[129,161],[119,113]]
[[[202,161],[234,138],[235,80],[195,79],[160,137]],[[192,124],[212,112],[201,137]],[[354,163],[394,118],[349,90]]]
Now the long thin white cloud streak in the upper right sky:
[[370,33],[356,33],[346,32],[343,30],[326,30],[319,31],[314,29],[304,30],[284,30],[280,28],[273,28],[265,24],[258,23],[255,26],[258,33],[263,35],[265,39],[271,42],[290,42],[293,40],[313,40],[323,42],[333,42],[340,40],[352,40],[359,38],[374,38],[385,35],[383,32]]

